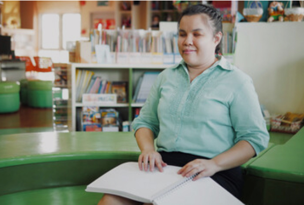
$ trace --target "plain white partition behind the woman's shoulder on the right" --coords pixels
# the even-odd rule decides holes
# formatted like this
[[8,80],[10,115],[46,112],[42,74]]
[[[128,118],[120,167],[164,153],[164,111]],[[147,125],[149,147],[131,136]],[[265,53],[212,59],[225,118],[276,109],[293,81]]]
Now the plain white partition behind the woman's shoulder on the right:
[[235,65],[271,114],[304,112],[304,22],[239,23]]

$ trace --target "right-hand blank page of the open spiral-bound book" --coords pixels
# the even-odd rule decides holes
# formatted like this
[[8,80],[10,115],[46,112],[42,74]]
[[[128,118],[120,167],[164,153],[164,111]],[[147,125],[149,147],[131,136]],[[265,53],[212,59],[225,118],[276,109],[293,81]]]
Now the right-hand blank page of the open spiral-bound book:
[[211,178],[189,180],[179,188],[160,196],[155,205],[244,205]]

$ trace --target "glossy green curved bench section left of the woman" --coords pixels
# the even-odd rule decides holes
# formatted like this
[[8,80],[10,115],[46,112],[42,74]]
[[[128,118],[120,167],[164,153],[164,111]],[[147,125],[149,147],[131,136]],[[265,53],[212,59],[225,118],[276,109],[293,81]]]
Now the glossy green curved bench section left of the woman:
[[96,204],[86,185],[139,153],[132,132],[2,135],[0,204]]

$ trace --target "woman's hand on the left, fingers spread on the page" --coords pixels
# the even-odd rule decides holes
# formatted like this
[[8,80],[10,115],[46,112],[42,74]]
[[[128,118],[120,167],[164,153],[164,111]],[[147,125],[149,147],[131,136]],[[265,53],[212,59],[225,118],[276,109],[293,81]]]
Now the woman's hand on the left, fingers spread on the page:
[[164,166],[167,164],[162,161],[161,155],[154,151],[143,151],[142,154],[139,156],[138,165],[141,170],[148,171],[148,165],[150,165],[150,172],[153,172],[154,167],[156,166],[159,172],[163,172]]

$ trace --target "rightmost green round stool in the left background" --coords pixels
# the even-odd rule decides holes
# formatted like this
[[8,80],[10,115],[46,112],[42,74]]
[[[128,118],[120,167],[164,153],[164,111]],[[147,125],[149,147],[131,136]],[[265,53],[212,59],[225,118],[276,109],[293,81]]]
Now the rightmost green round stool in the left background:
[[28,81],[27,105],[33,108],[52,108],[52,81]]

